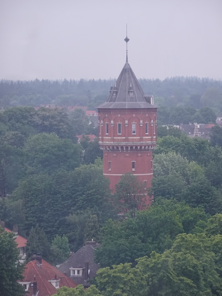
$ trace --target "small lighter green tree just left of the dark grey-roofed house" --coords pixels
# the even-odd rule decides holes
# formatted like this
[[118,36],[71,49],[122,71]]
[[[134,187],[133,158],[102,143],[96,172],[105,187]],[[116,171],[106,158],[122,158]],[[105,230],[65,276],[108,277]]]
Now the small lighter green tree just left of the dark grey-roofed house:
[[69,258],[70,248],[69,241],[65,234],[62,237],[56,235],[51,245],[51,262],[54,265],[61,264]]

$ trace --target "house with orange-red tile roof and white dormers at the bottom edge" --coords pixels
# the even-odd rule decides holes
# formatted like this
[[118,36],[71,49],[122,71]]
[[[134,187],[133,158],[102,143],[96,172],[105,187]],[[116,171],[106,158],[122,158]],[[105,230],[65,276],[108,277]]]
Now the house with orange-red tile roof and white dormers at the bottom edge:
[[40,253],[34,254],[25,265],[24,278],[18,281],[25,286],[27,295],[51,296],[63,286],[75,288],[77,284],[64,273],[41,258]]

